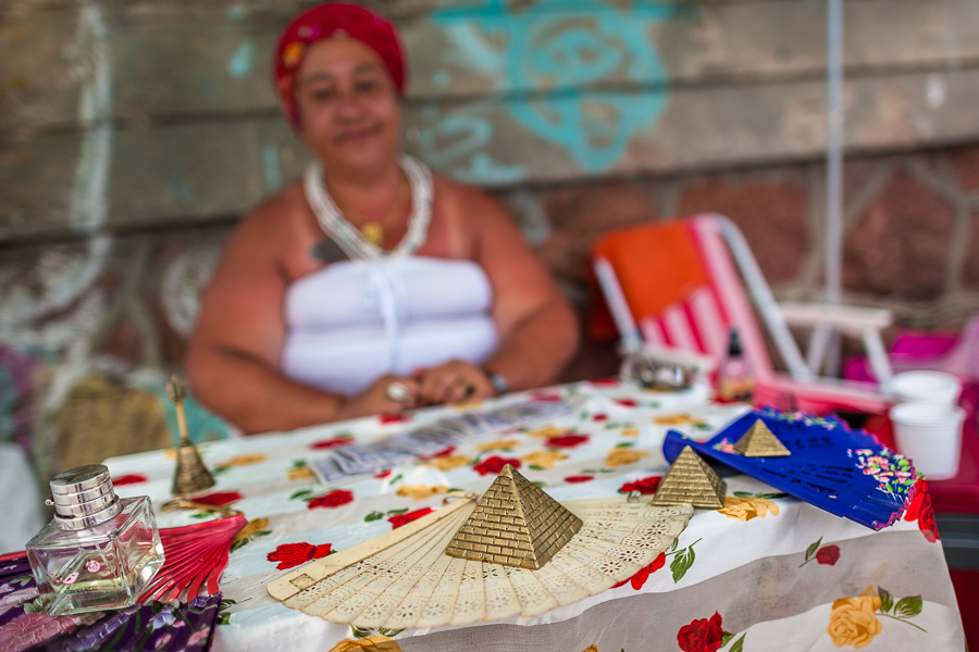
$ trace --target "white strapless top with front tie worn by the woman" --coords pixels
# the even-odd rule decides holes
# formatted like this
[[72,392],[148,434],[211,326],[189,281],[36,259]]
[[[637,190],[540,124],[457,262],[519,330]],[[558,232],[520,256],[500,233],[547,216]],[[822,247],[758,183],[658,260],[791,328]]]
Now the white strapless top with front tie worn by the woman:
[[354,396],[383,374],[453,359],[481,364],[499,336],[493,288],[472,261],[424,256],[343,261],[286,290],[283,374]]

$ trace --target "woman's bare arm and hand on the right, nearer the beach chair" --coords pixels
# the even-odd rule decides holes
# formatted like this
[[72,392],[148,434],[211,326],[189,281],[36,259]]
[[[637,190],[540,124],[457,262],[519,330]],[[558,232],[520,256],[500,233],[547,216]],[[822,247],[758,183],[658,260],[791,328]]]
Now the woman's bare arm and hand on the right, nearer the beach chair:
[[[485,369],[503,376],[510,390],[553,383],[578,350],[578,319],[550,273],[509,215],[484,192],[453,187],[459,228],[474,242],[473,260],[493,286],[493,319],[500,343]],[[482,369],[453,361],[421,377],[423,402],[441,403],[493,396]]]

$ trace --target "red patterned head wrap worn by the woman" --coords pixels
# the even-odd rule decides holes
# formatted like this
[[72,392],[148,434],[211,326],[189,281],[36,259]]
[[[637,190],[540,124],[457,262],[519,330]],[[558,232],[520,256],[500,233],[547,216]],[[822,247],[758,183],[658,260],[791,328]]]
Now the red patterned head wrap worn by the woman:
[[405,92],[407,78],[405,55],[394,25],[357,4],[342,2],[321,4],[299,14],[286,27],[278,38],[275,59],[272,62],[275,90],[282,99],[286,115],[297,127],[299,112],[296,109],[294,91],[299,66],[302,65],[311,45],[339,35],[356,38],[373,50],[387,68],[398,93]]

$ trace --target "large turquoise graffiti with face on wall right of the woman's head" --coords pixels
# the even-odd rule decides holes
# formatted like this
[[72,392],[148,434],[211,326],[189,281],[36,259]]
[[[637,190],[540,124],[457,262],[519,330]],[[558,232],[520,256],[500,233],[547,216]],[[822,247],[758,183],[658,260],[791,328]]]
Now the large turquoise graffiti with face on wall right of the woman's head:
[[[454,47],[447,67],[496,79],[506,112],[520,127],[562,148],[583,170],[600,172],[667,105],[666,71],[649,27],[690,11],[674,2],[637,1],[617,9],[599,0],[543,0],[511,11],[508,0],[487,0],[433,12],[430,20]],[[433,72],[436,86],[448,79],[447,71]],[[631,88],[603,89],[608,79]],[[423,127],[423,154],[455,161],[464,176],[491,176],[472,180],[519,180],[522,166],[492,161],[482,151],[494,137],[493,123],[478,109],[459,113]],[[433,152],[447,131],[457,138],[442,138],[445,148]]]

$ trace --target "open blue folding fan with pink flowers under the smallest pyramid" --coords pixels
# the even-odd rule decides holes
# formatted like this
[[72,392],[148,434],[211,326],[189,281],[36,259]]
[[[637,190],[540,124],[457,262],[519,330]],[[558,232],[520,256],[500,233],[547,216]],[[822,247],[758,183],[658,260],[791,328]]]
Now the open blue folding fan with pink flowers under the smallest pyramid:
[[[759,418],[791,455],[747,457],[734,451],[738,440]],[[915,493],[910,460],[881,446],[872,435],[851,430],[833,417],[755,410],[703,443],[670,430],[662,453],[672,463],[686,446],[875,530],[897,521]]]

